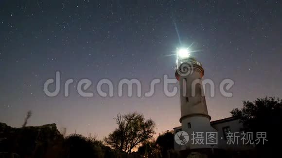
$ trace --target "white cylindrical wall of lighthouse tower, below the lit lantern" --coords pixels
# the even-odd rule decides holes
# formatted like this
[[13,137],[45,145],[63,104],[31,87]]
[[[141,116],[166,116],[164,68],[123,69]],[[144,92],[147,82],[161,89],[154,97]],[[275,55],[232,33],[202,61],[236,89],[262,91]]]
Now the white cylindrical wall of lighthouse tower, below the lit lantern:
[[[191,67],[190,67],[191,68]],[[188,68],[189,69],[189,68]],[[188,133],[190,140],[185,145],[180,145],[180,150],[217,148],[216,144],[206,143],[207,132],[216,132],[211,126],[210,116],[207,111],[206,100],[202,88],[203,71],[200,68],[192,67],[192,73],[186,76],[179,76],[180,104],[181,104],[181,129]],[[186,89],[185,89],[186,88]],[[189,126],[188,126],[189,124]],[[202,132],[203,142],[192,140],[192,134]]]

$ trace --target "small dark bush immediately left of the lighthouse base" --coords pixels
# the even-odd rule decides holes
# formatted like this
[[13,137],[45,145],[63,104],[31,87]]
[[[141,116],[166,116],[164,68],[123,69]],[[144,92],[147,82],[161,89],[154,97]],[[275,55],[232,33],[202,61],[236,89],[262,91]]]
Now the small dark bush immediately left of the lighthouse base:
[[172,131],[166,131],[160,134],[156,140],[156,144],[159,146],[161,155],[164,158],[168,157],[168,150],[174,148],[174,134]]

